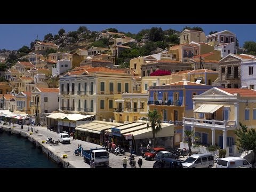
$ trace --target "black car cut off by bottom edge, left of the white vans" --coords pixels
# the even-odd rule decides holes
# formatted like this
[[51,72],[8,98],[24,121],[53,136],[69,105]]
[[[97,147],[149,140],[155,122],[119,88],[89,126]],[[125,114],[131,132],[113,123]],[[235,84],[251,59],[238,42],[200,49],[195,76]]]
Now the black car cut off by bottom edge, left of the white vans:
[[155,162],[153,168],[169,168],[169,169],[182,169],[182,163],[180,160],[173,158],[162,158],[161,161]]

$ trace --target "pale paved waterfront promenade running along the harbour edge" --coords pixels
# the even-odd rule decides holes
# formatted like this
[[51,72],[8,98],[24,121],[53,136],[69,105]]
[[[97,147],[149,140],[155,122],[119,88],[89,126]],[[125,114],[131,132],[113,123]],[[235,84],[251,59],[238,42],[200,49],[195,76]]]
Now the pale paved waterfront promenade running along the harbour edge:
[[[6,127],[5,130],[8,131],[10,127],[12,127],[13,124],[11,124],[11,126],[8,125],[3,125],[0,124],[1,127]],[[41,126],[35,126],[34,128],[34,132],[32,135],[29,135],[28,131],[28,126],[27,125],[23,125],[23,129],[20,129],[21,125],[17,125],[14,124],[15,128],[11,128],[11,131],[15,134],[21,133],[21,135],[23,136],[29,136],[29,140],[34,142],[34,140],[38,143],[36,143],[37,147],[41,146],[42,150],[44,151],[44,153],[46,153],[46,155],[49,155],[57,164],[59,162],[61,162],[63,164],[63,167],[65,168],[90,168],[90,165],[85,163],[83,161],[83,157],[82,156],[76,156],[73,155],[75,149],[77,149],[77,145],[81,144],[83,149],[90,149],[90,148],[102,148],[102,146],[94,144],[94,143],[90,143],[90,142],[86,142],[86,141],[81,141],[81,140],[77,140],[77,139],[73,139],[72,137],[71,139],[71,143],[70,144],[65,144],[62,145],[61,143],[56,146],[56,145],[52,145],[50,146],[49,143],[42,143],[43,140],[46,141],[46,139],[48,137],[52,137],[53,140],[58,140],[58,133],[47,130],[47,128],[45,126],[41,127]],[[34,126],[32,126],[34,127]],[[30,126],[31,128],[31,126]],[[35,130],[38,130],[38,133],[35,133]],[[67,154],[68,158],[63,158],[63,154]],[[126,158],[129,158],[130,153],[126,153]],[[124,158],[124,155],[114,155],[114,154],[109,154],[109,167],[111,168],[122,168],[123,167],[123,162],[122,159]],[[137,162],[138,162],[139,156],[135,156],[135,161],[136,161],[136,165],[138,166]],[[153,164],[155,161],[146,161],[145,159],[143,160],[143,164],[142,164],[142,168],[152,168]],[[131,166],[129,165],[129,162],[127,164],[127,168],[130,168]]]

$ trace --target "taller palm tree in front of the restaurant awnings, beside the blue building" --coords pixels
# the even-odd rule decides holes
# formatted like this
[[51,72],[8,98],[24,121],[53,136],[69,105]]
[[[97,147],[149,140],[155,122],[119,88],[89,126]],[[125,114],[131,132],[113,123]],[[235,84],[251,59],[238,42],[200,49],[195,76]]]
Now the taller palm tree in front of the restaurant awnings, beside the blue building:
[[[152,134],[153,134],[153,143],[154,147],[157,146],[156,143],[156,134],[158,131],[162,130],[161,126],[161,115],[157,114],[156,110],[148,111],[148,121],[151,124]],[[149,128],[149,124],[147,123],[147,129]]]

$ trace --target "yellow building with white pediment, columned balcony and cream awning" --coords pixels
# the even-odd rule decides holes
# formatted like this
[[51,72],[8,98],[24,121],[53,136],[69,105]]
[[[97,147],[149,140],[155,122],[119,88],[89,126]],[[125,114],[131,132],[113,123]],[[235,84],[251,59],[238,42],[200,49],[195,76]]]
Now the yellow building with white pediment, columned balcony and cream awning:
[[193,130],[199,143],[217,144],[226,149],[226,157],[235,155],[234,132],[240,127],[239,122],[256,129],[255,99],[256,91],[233,88],[214,87],[194,95],[194,115],[183,117],[183,130]]

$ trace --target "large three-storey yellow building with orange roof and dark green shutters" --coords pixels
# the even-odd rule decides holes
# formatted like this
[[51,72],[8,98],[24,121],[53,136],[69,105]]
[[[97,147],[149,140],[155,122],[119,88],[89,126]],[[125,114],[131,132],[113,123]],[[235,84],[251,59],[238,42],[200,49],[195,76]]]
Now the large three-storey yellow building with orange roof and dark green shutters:
[[132,92],[132,75],[105,67],[79,68],[60,77],[60,107],[69,113],[114,118],[114,94]]

